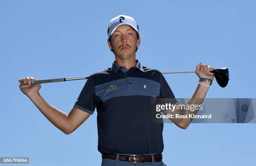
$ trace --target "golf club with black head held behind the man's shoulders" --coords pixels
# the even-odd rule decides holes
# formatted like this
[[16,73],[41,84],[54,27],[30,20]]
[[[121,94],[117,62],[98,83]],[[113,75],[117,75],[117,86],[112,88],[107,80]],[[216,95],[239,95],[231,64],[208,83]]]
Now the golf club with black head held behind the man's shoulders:
[[[162,74],[167,73],[191,73],[195,71],[172,71],[172,72],[161,72]],[[214,74],[214,77],[220,87],[226,87],[229,80],[228,68],[223,67],[220,69],[213,69],[210,71]],[[71,81],[71,80],[78,80],[78,79],[88,79],[89,76],[86,77],[72,77],[72,78],[57,78],[57,79],[42,79],[42,80],[35,80],[33,84],[44,84],[44,83],[52,83],[52,82],[64,82],[64,81]],[[31,84],[31,85],[33,85]],[[23,83],[22,81],[18,81],[18,86],[25,86],[28,85],[27,83]]]

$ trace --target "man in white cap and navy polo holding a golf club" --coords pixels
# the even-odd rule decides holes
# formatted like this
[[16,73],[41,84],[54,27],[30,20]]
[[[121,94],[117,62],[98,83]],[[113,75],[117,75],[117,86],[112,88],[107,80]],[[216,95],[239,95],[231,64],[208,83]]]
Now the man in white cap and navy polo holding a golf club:
[[[20,90],[65,134],[77,129],[97,108],[102,165],[164,166],[163,124],[151,123],[151,99],[175,97],[161,72],[142,66],[136,59],[140,42],[138,25],[132,17],[119,15],[110,20],[108,46],[115,54],[115,61],[112,67],[90,75],[68,115],[41,97],[40,84],[20,87]],[[205,98],[214,78],[212,70],[207,64],[197,64],[196,74],[204,79],[200,80],[192,99]],[[36,79],[21,80],[31,84]],[[188,104],[195,102],[190,100]],[[191,122],[173,121],[182,129]]]

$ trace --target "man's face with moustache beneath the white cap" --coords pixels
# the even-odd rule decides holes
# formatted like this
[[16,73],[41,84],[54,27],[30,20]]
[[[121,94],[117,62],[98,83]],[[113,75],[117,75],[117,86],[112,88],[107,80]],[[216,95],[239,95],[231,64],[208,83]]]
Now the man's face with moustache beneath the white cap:
[[[111,36],[108,46],[120,59],[130,59],[135,55],[136,47],[140,45],[141,39],[137,40],[136,31],[129,25],[120,25]],[[112,45],[111,45],[112,44]]]

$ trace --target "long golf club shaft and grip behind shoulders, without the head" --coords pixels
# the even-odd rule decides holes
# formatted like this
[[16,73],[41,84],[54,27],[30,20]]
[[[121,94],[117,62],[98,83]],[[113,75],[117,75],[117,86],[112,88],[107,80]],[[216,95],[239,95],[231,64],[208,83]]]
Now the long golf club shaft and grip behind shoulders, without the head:
[[[172,71],[172,72],[161,72],[162,74],[167,73],[192,73],[195,71]],[[89,76],[86,77],[72,77],[72,78],[57,78],[57,79],[43,79],[43,80],[35,80],[33,84],[44,84],[44,83],[52,83],[52,82],[64,82],[64,81],[72,81],[78,79],[87,79]],[[31,85],[33,85],[31,84]],[[28,85],[27,83],[23,83],[22,81],[18,81],[18,86],[25,86]]]

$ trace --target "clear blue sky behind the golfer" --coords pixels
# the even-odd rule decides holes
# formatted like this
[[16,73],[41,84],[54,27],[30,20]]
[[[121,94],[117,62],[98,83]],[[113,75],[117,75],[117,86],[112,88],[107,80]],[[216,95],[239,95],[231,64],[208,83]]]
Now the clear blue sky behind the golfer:
[[[107,45],[108,23],[120,14],[139,25],[143,37],[136,58],[143,66],[195,70],[201,61],[228,67],[228,86],[214,80],[206,97],[256,98],[255,7],[253,0],[1,0],[0,157],[30,157],[24,166],[100,165],[97,114],[66,135],[17,81],[82,77],[111,67],[115,57]],[[175,97],[192,97],[195,73],[164,76]],[[68,114],[85,82],[41,84],[39,92]],[[164,124],[163,161],[167,166],[254,165],[255,129],[256,124],[191,124],[186,130]]]

